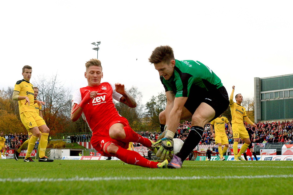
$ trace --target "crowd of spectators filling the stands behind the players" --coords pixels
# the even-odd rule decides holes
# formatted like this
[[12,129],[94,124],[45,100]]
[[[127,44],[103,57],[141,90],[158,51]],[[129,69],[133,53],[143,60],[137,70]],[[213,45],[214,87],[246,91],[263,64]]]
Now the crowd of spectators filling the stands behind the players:
[[[250,129],[251,125],[244,122],[246,129]],[[293,131],[293,120],[292,121],[283,121],[283,122],[258,122],[257,128],[252,127],[251,129],[255,133],[256,143],[278,143],[283,142],[285,144],[293,144],[292,131]],[[189,129],[191,126],[190,121],[185,121],[183,123],[179,123],[177,127],[177,133],[175,134],[177,138],[181,140],[185,140],[188,136]],[[225,126],[226,134],[229,140],[229,144],[233,144],[233,135],[228,130],[228,125]],[[149,131],[140,131],[140,135],[144,137],[149,137],[153,141],[157,141],[159,132],[149,132]],[[79,134],[79,135],[71,135],[70,140],[71,143],[79,142],[79,141],[91,141],[92,134]],[[22,145],[24,141],[28,139],[28,134],[22,133],[8,133],[5,134],[6,145],[10,147],[10,149],[18,148]],[[63,137],[64,139],[64,137]],[[242,140],[239,143],[243,143]],[[212,137],[212,133],[210,131],[210,123],[207,123],[204,127],[204,132],[202,135],[201,142],[199,144],[202,145],[213,145],[215,144],[214,137]],[[136,146],[136,145],[135,145]]]

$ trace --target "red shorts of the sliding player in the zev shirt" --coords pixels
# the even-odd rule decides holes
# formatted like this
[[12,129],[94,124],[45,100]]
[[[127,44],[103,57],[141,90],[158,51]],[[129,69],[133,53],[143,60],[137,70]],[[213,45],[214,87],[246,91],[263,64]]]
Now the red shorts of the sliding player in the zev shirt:
[[[129,127],[129,124],[128,124],[128,121],[126,118],[124,117],[119,117],[119,120],[115,120],[115,121],[112,121],[108,128],[105,129],[106,131],[109,132],[109,129],[112,125],[116,124],[116,123],[122,123],[124,126],[128,126]],[[108,153],[105,153],[103,151],[103,148],[104,148],[104,145],[105,143],[107,142],[111,142],[117,146],[120,146],[122,148],[125,148],[127,149],[128,146],[129,146],[129,143],[124,143],[122,141],[119,141],[119,140],[115,140],[115,139],[112,139],[110,136],[109,136],[109,133],[108,133],[108,136],[98,136],[96,135],[96,133],[93,132],[93,136],[91,138],[91,144],[92,146],[94,147],[94,149],[96,149],[102,156],[105,156],[105,157],[111,157],[113,155],[111,154],[108,154]]]

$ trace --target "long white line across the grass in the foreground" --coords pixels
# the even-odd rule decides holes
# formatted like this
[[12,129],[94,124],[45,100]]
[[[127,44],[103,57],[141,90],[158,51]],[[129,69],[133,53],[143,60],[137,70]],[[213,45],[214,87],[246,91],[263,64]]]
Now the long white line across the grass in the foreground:
[[0,182],[60,182],[60,181],[130,181],[130,180],[210,180],[210,179],[259,179],[293,178],[293,175],[254,175],[254,176],[192,176],[192,177],[71,177],[71,178],[0,178]]

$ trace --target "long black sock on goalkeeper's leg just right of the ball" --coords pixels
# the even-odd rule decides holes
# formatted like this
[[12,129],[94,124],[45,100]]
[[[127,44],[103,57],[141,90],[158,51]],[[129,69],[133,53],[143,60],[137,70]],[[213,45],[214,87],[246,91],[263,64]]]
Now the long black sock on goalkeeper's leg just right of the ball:
[[199,126],[192,126],[190,128],[190,132],[181,148],[179,153],[176,154],[177,157],[181,158],[183,162],[189,155],[189,153],[197,146],[197,144],[201,141],[203,133],[203,128]]

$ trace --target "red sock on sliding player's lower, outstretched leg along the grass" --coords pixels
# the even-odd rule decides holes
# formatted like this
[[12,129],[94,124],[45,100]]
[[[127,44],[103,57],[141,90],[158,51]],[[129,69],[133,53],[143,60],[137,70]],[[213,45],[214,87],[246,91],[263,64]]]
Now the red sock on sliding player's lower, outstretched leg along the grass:
[[148,168],[158,168],[157,164],[158,162],[149,161],[148,159],[140,156],[139,153],[127,150],[124,148],[119,147],[115,157],[119,158],[121,161],[126,162],[130,165],[138,165],[141,167],[148,167]]

